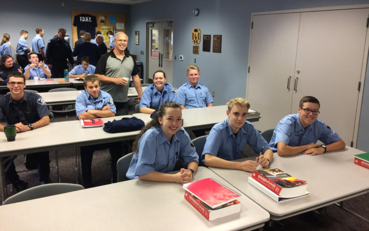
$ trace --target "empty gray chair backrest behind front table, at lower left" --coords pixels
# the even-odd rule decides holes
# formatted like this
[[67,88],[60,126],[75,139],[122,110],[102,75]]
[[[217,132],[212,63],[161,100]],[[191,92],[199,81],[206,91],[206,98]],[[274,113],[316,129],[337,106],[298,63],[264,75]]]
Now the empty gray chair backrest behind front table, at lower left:
[[8,197],[4,204],[12,204],[26,200],[33,200],[42,197],[53,196],[62,193],[69,193],[77,190],[85,189],[82,185],[69,183],[53,183],[47,185],[38,185],[24,191],[21,191],[11,197]]

